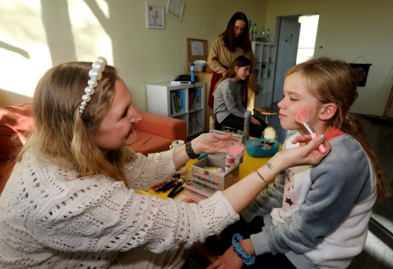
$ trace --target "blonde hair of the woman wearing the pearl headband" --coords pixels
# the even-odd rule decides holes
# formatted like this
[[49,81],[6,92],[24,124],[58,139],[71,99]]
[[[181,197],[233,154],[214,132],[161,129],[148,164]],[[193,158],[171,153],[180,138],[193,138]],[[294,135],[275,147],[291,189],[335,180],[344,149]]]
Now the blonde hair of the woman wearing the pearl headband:
[[42,76],[33,96],[35,128],[17,160],[34,149],[53,163],[67,161],[80,176],[107,175],[127,186],[122,150],[104,156],[91,139],[110,109],[119,79],[115,67],[105,66],[91,101],[79,114],[91,68],[91,62],[68,62],[50,68]]

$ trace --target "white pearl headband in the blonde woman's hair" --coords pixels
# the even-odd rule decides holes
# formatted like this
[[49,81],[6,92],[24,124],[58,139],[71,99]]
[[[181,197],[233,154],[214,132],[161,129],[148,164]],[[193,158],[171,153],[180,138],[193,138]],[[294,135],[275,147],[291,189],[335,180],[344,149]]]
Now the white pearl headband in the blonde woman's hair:
[[94,88],[97,87],[99,81],[102,78],[102,72],[105,70],[106,59],[104,57],[98,57],[97,60],[92,64],[92,68],[89,71],[89,78],[88,81],[89,86],[84,88],[84,93],[82,96],[82,103],[80,103],[79,113],[83,114],[83,111],[86,105],[91,100],[91,95],[94,94]]

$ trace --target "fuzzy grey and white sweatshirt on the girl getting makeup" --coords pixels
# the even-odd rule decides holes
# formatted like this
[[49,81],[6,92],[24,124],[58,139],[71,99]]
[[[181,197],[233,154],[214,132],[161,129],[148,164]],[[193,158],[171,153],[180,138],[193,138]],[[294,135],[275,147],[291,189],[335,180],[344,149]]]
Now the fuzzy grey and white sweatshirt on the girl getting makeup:
[[[298,132],[290,132],[285,148]],[[367,237],[376,201],[374,169],[360,143],[342,134],[318,166],[287,169],[242,212],[265,227],[251,235],[256,255],[286,253],[297,268],[346,268]]]

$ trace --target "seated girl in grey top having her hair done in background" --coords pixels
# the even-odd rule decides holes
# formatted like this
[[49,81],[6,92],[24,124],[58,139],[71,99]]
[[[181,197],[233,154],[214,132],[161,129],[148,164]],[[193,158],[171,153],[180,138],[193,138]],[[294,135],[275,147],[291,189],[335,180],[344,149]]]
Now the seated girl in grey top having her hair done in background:
[[[242,104],[241,81],[250,76],[250,68],[248,58],[237,57],[215,89],[213,112],[219,124],[243,130],[246,108]],[[259,138],[266,126],[264,120],[251,116],[250,135]]]

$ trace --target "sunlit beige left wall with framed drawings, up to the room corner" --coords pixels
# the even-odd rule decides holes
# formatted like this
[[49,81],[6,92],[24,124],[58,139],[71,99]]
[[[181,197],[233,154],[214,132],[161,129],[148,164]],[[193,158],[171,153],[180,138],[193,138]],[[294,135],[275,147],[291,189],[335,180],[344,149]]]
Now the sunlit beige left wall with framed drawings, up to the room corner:
[[[152,0],[167,5],[167,0]],[[3,0],[0,2],[1,100],[19,103],[11,91],[31,96],[37,80],[53,65],[93,61],[115,65],[134,97],[147,110],[147,83],[171,81],[187,71],[186,38],[214,38],[229,18],[243,11],[259,26],[266,1],[188,0],[180,22],[165,15],[165,29],[147,29],[145,1]],[[82,93],[81,93],[82,95]],[[4,104],[2,104],[4,105]]]

